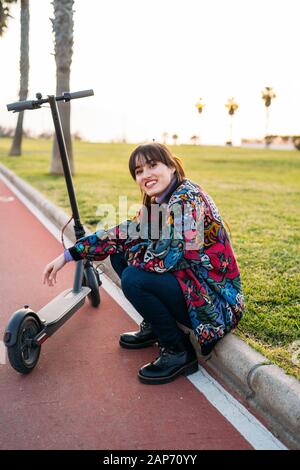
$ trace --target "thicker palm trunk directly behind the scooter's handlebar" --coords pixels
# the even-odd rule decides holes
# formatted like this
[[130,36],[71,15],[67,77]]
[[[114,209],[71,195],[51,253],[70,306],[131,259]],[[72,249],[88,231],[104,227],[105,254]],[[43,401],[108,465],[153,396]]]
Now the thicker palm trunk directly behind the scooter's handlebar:
[[[64,91],[70,91],[70,74],[73,55],[73,4],[74,0],[53,0],[52,2],[54,7],[54,18],[51,19],[51,21],[54,32],[56,95],[61,95]],[[72,174],[74,174],[70,103],[58,103],[58,109],[61,116],[70,168]],[[50,172],[55,175],[63,174],[61,158],[55,136],[52,147]]]

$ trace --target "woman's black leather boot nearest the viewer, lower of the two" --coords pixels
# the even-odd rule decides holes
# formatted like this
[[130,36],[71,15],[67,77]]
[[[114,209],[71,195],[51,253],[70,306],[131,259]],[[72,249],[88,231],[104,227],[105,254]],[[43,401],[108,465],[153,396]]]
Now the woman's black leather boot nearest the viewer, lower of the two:
[[179,375],[197,372],[198,360],[195,350],[185,336],[181,341],[160,349],[158,358],[139,370],[138,377],[145,384],[164,384]]

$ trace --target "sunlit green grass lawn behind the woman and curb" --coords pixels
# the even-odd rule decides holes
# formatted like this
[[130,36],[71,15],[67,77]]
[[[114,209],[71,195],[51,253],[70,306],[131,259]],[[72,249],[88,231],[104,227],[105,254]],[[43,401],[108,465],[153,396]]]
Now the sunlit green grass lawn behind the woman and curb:
[[[7,157],[9,139],[0,139],[0,161],[68,213],[63,177],[48,174],[51,142],[25,140],[22,157]],[[140,192],[128,171],[135,145],[75,142],[74,184],[83,222],[96,229],[100,203],[128,206]],[[300,152],[263,149],[172,147],[187,176],[214,198],[231,229],[241,269],[246,312],[236,334],[300,379]],[[298,364],[297,364],[298,362]]]

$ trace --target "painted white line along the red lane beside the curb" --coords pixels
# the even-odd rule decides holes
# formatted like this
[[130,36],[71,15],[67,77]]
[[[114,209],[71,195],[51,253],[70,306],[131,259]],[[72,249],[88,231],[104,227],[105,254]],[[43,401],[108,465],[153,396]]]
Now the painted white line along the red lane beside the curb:
[[[22,203],[37,217],[37,219],[60,241],[60,230],[44,216],[10,181],[0,174],[0,178],[15,193]],[[65,237],[67,243],[72,242]],[[122,309],[134,320],[140,323],[141,316],[124,296],[122,290],[107,276],[102,275],[102,286]],[[287,450],[273,434],[263,426],[238,400],[232,397],[209,373],[199,365],[198,372],[187,377],[190,382],[207,398],[207,400],[232,424],[234,428],[256,450]]]

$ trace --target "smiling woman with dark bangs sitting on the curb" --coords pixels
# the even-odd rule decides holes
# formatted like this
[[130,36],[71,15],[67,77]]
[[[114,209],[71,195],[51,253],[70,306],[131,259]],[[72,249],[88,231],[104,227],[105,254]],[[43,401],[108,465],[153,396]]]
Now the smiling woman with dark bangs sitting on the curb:
[[44,283],[53,285],[68,261],[110,256],[124,295],[144,319],[139,331],[122,334],[119,343],[139,349],[159,342],[158,358],[138,377],[161,384],[198,368],[178,323],[193,329],[206,355],[241,319],[243,294],[220,214],[185,177],[179,158],[165,145],[143,144],[132,152],[129,170],[143,195],[138,215],[78,240],[46,266]]

